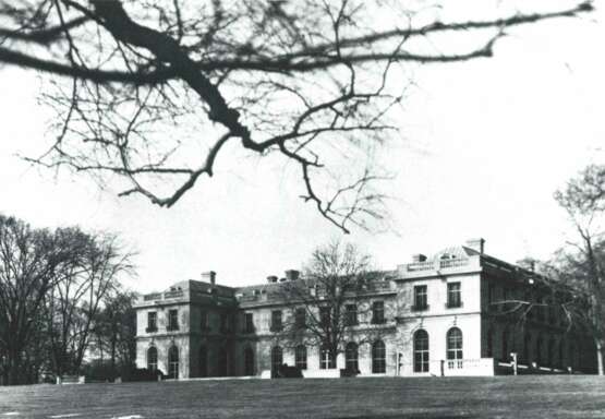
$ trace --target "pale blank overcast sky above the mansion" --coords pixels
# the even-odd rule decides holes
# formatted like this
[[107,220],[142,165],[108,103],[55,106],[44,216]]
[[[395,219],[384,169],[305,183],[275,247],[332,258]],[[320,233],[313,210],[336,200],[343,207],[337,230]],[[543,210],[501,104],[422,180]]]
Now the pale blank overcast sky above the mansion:
[[[492,59],[414,69],[418,87],[398,116],[401,141],[380,156],[397,173],[385,189],[396,232],[346,239],[380,268],[473,237],[509,262],[548,258],[568,231],[553,192],[605,161],[604,16],[511,29]],[[209,270],[225,285],[262,283],[340,237],[298,197],[298,171],[277,159],[221,156],[215,178],[170,210],[31,168],[16,154],[39,154],[49,141],[40,88],[35,73],[0,71],[0,212],[37,227],[121,234],[138,251],[135,290]]]

